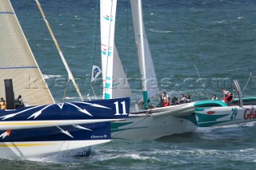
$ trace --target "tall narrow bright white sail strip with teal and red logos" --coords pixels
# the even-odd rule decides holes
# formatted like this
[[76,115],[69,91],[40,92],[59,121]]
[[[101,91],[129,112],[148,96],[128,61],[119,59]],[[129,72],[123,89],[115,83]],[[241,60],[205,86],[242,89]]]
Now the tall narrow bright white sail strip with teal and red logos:
[[112,98],[114,25],[117,0],[101,0],[101,42],[103,98]]

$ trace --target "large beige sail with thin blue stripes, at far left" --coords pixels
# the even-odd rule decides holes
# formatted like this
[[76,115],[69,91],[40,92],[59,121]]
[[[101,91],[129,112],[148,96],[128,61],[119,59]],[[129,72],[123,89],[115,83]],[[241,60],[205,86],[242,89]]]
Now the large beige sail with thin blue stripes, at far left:
[[14,95],[27,105],[54,103],[9,0],[0,3],[0,96],[4,79],[12,79]]

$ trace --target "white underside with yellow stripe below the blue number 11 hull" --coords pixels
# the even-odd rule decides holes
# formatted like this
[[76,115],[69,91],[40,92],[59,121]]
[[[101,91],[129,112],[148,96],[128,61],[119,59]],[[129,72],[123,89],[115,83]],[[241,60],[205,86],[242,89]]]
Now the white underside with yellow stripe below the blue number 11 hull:
[[102,144],[109,141],[110,140],[60,140],[0,142],[0,157],[8,159],[24,159],[76,148],[86,148],[94,144]]

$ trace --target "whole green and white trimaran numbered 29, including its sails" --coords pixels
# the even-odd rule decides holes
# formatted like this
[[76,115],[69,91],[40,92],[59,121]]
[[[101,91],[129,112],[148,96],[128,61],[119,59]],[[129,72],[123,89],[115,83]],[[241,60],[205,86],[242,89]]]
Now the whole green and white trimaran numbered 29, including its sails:
[[[160,94],[158,79],[150,53],[145,26],[142,19],[142,1],[130,0],[134,38],[138,52],[138,64],[142,79],[142,112],[130,113],[126,121],[112,123],[112,137],[125,139],[156,139],[174,133],[194,132],[198,126],[233,125],[256,120],[254,106],[242,106],[234,101],[198,101],[164,108],[148,109],[148,100]],[[101,0],[102,79],[103,98],[131,97],[130,85],[122,68],[118,50],[114,44],[114,26],[117,0]],[[238,82],[235,82],[238,85]],[[248,102],[252,98],[244,99]],[[238,103],[240,104],[238,106]]]

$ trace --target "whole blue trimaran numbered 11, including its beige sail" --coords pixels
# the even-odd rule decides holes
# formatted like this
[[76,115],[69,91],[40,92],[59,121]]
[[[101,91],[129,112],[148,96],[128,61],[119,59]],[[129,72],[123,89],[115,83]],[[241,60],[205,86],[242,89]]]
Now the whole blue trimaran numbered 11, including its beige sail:
[[[0,157],[41,156],[110,141],[110,121],[128,116],[128,97],[56,104],[9,0],[0,0],[0,37],[0,95],[6,94]],[[25,107],[14,108],[14,94],[22,94]]]

